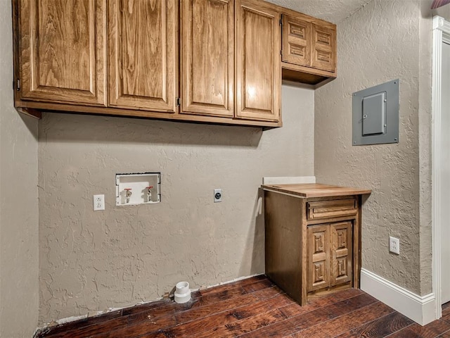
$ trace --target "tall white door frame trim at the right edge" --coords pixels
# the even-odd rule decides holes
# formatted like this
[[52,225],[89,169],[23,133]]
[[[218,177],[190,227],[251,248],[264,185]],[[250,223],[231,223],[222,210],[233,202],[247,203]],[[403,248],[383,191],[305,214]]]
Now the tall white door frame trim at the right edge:
[[440,16],[433,17],[432,42],[432,288],[436,296],[436,319],[442,317],[441,304],[441,229],[442,222],[439,210],[441,175],[437,168],[441,165],[441,154],[444,149],[439,146],[441,133],[441,87],[442,87],[442,43],[450,42],[450,22]]

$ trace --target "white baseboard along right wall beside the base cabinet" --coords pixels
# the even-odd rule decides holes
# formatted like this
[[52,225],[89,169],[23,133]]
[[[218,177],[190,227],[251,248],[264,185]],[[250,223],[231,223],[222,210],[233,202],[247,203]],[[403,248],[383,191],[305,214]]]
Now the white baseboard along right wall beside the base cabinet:
[[361,269],[361,289],[420,325],[437,319],[435,294],[418,296],[366,269]]

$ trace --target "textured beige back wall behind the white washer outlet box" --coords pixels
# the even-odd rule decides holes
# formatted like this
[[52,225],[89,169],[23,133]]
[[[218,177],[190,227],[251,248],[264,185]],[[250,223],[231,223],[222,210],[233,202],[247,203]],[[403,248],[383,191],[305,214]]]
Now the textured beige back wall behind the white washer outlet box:
[[[266,130],[48,113],[39,123],[41,323],[264,273],[263,176],[314,175],[314,91],[283,85]],[[115,206],[115,174],[160,171],[162,203]],[[223,201],[214,204],[214,188]],[[105,194],[106,210],[92,211]]]

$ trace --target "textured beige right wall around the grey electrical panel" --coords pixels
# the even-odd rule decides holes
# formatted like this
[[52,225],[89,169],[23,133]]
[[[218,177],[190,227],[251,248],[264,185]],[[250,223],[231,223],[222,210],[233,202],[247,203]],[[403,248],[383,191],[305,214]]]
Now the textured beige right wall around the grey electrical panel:
[[[314,145],[318,181],[373,189],[363,268],[428,294],[431,21],[421,11],[419,0],[373,0],[338,24],[338,79],[316,91]],[[396,78],[399,144],[352,146],[352,93]],[[390,235],[400,239],[399,256],[389,253]]]

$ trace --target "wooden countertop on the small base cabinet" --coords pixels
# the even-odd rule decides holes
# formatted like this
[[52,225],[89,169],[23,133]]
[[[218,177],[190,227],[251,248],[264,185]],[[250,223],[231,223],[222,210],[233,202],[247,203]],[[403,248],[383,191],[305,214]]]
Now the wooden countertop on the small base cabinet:
[[370,194],[372,192],[371,189],[339,187],[338,185],[328,185],[320,183],[263,184],[262,189],[304,198],[361,195]]

